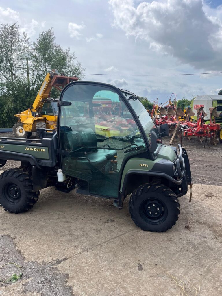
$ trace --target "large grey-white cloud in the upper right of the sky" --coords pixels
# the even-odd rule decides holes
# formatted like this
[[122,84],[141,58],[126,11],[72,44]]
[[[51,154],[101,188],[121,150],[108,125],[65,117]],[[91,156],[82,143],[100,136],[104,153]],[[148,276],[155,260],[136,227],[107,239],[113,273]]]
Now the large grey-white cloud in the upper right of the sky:
[[221,69],[222,22],[219,15],[206,14],[202,0],[141,2],[137,7],[133,0],[109,4],[113,25],[126,36],[144,39],[153,51],[196,68]]

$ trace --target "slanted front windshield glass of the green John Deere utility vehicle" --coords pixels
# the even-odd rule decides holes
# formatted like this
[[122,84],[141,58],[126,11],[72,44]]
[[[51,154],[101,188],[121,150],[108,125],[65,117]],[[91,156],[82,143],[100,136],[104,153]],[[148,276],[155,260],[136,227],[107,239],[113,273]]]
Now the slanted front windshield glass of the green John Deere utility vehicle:
[[150,142],[150,133],[152,131],[155,131],[157,134],[157,137],[160,139],[160,134],[155,126],[155,123],[153,122],[151,116],[149,115],[148,111],[144,107],[144,105],[140,102],[137,96],[124,93],[124,96],[128,99],[128,102],[133,107],[133,110],[135,111],[136,115],[139,118],[139,121],[144,128],[144,131],[147,135],[147,139]]

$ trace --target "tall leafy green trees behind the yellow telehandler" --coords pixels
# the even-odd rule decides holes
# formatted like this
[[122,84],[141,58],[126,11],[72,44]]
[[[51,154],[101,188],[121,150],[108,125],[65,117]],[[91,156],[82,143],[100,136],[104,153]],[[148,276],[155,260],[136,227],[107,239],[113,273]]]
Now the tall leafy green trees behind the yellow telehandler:
[[[25,33],[20,35],[16,23],[0,26],[0,127],[12,127],[17,120],[14,114],[32,105],[52,69],[84,78],[81,74],[84,68],[76,61],[75,53],[56,44],[52,28],[41,32],[32,42]],[[51,96],[58,97],[59,91],[52,89]]]

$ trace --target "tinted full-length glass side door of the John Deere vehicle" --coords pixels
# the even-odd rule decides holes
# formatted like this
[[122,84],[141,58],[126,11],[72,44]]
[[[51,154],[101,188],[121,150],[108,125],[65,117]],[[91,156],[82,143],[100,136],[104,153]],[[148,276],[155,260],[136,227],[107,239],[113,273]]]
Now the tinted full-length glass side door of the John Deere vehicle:
[[[65,89],[59,118],[63,172],[92,194],[118,197],[124,157],[146,150],[128,107],[117,93],[99,84],[76,83]],[[69,155],[68,155],[69,154]]]

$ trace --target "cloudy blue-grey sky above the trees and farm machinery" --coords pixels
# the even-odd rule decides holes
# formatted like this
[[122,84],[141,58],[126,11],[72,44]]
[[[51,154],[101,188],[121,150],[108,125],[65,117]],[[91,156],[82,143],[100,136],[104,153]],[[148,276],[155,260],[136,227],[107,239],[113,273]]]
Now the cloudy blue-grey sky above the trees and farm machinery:
[[[64,5],[62,7],[62,5]],[[18,22],[35,39],[53,27],[85,73],[222,72],[222,0],[0,0],[0,23]],[[95,76],[160,102],[217,94],[222,75]]]

